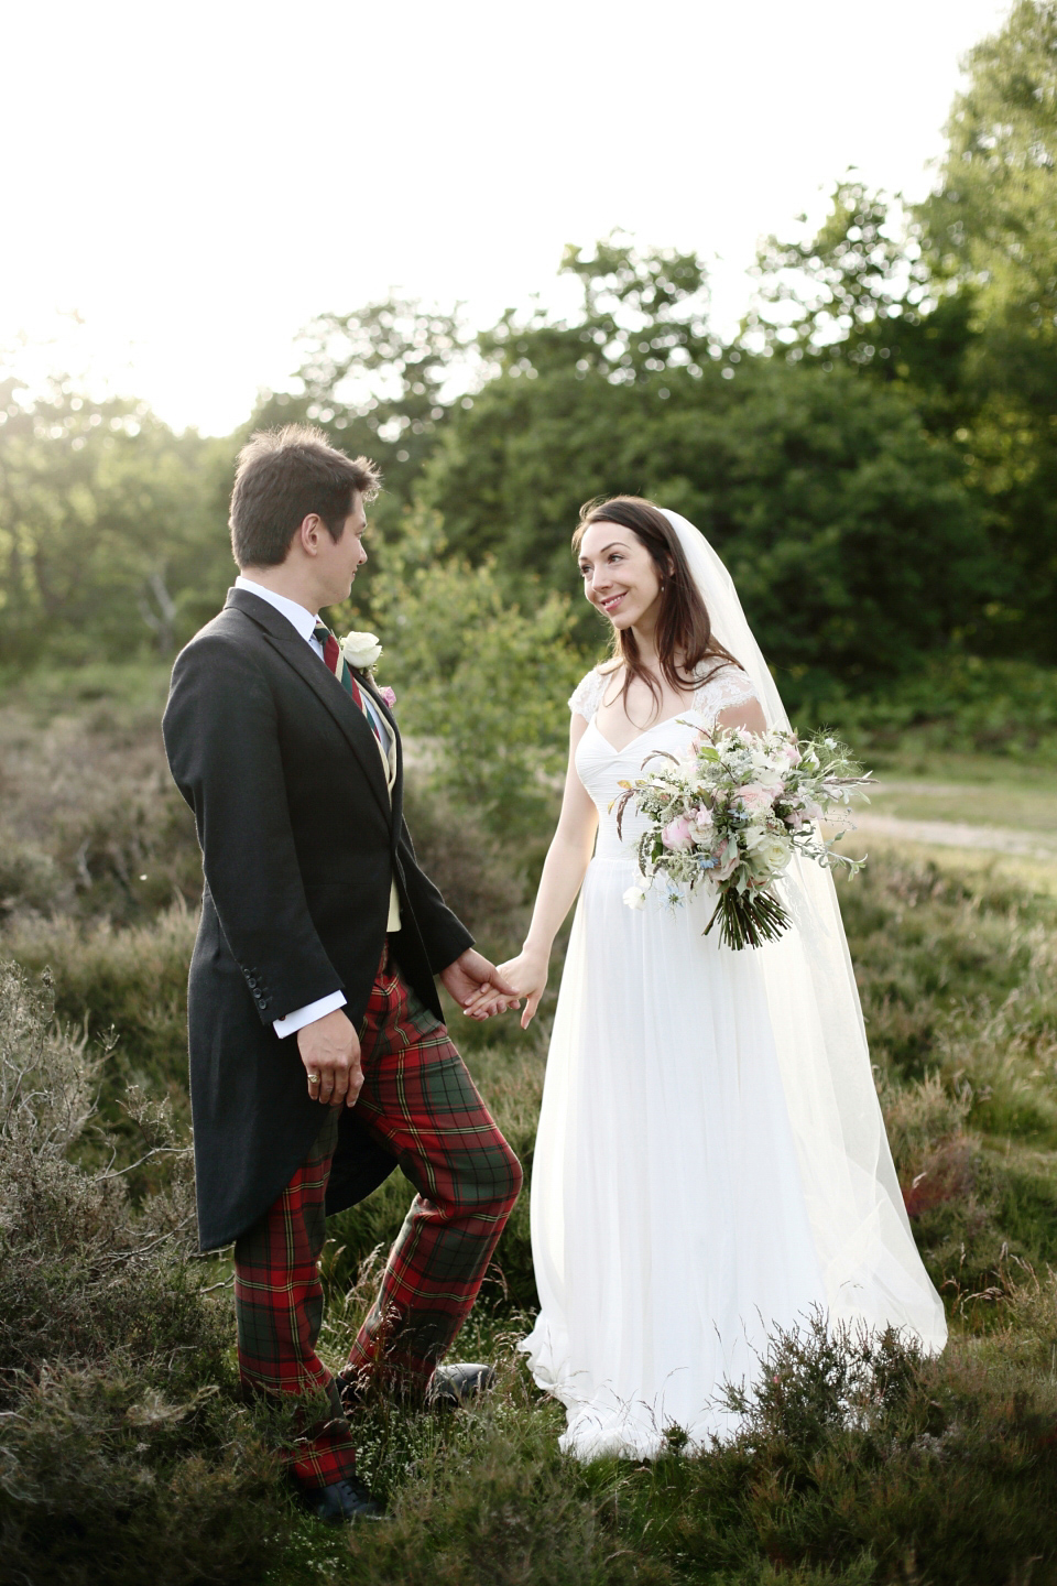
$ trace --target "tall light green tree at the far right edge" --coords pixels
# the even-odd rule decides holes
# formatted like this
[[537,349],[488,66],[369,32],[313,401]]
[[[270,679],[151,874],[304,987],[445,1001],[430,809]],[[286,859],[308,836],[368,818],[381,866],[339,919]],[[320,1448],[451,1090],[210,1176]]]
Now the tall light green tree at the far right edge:
[[1057,661],[1057,5],[1019,0],[968,56],[925,260],[971,293],[965,368],[970,481],[992,520],[1008,593],[990,644]]

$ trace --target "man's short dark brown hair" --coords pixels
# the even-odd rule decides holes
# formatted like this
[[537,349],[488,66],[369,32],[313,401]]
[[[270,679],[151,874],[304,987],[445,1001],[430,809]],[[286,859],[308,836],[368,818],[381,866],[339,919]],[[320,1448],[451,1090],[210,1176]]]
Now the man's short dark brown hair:
[[331,539],[341,539],[358,490],[371,501],[382,477],[366,457],[345,457],[322,430],[287,423],[258,430],[239,452],[231,492],[231,554],[239,568],[274,568],[315,512]]

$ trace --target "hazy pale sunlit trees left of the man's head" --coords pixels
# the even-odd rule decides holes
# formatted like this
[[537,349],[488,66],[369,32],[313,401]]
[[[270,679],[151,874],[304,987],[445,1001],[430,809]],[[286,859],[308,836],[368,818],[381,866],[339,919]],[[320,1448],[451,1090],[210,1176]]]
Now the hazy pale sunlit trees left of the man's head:
[[68,382],[0,389],[0,660],[171,655],[223,600],[230,447]]

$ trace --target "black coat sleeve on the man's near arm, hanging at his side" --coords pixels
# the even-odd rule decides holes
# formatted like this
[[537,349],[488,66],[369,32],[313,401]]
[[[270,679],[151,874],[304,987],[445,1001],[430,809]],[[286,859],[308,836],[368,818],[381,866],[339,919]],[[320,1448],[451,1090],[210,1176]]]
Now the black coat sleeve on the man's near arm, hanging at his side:
[[195,639],[176,660],[162,733],[261,1023],[344,990],[309,915],[276,704],[252,653],[219,634]]

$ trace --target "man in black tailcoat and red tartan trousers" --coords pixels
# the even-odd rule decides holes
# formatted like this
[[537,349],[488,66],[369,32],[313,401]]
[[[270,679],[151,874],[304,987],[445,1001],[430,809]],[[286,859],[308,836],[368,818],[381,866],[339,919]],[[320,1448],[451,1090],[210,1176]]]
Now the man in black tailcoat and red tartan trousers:
[[[347,1419],[371,1381],[456,1402],[480,1385],[485,1367],[439,1362],[521,1188],[434,975],[461,1006],[490,988],[475,1015],[509,986],[420,871],[393,715],[317,615],[366,561],[377,487],[319,430],[254,436],[231,495],[241,576],[177,657],[163,720],[204,869],[189,998],[200,1242],[235,1240],[241,1378],[304,1399],[287,1464],[336,1521],[377,1513]],[[325,1216],[396,1164],[418,1193],[334,1378],[315,1354]]]

